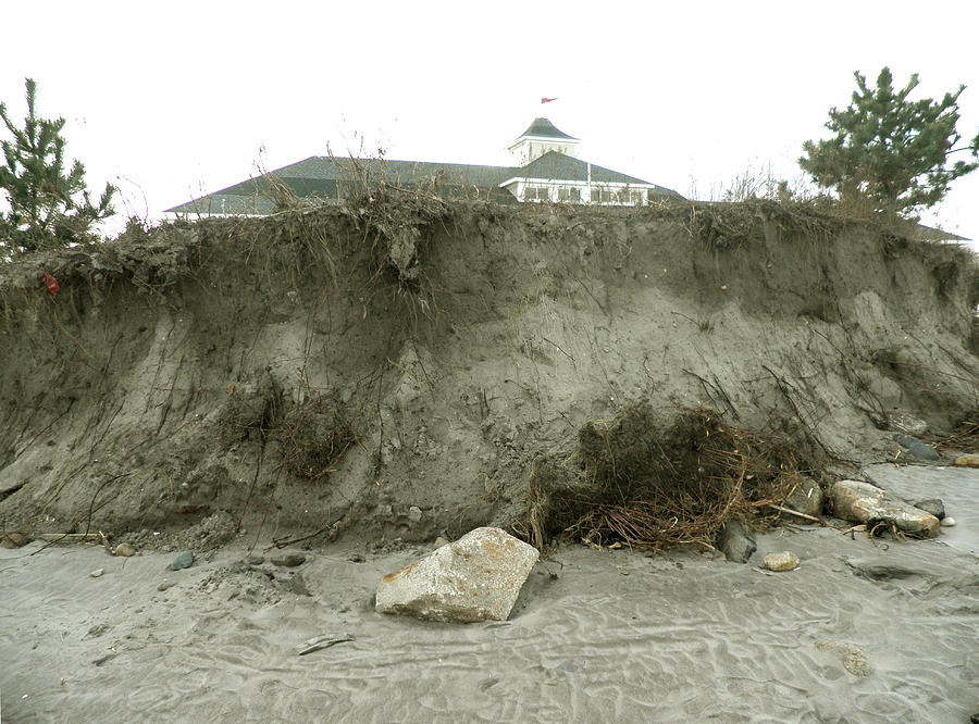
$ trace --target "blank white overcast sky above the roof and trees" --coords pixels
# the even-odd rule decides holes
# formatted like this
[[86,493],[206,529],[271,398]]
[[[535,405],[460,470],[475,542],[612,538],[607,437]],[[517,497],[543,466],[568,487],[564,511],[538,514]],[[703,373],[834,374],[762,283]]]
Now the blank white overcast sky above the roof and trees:
[[[125,217],[327,147],[508,164],[535,115],[581,158],[696,198],[797,179],[853,72],[920,75],[979,128],[975,2],[4,2],[0,100],[63,115]],[[541,105],[542,97],[559,100]],[[4,130],[5,133],[5,130]],[[965,154],[959,154],[965,157]],[[979,237],[979,172],[926,221]]]

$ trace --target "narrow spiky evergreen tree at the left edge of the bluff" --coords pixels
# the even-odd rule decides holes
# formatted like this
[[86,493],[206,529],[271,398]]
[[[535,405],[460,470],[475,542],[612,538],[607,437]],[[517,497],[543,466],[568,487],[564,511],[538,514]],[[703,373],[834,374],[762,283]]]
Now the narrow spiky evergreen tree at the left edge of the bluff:
[[0,118],[13,136],[0,142],[5,165],[0,165],[0,189],[10,205],[0,212],[0,246],[4,237],[13,250],[33,251],[63,247],[79,241],[97,221],[115,213],[112,195],[106,184],[98,203],[92,203],[85,185],[85,167],[74,161],[65,172],[65,140],[61,135],[64,118],[49,121],[37,116],[37,84],[27,78],[27,117],[24,127],[15,126],[0,103]]

